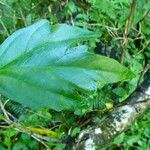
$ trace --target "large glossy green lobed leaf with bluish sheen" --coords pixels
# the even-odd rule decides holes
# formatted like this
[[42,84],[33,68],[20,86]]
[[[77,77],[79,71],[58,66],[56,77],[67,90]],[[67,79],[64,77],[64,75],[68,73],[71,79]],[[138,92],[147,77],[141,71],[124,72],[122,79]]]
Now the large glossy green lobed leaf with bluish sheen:
[[73,45],[97,34],[41,20],[0,46],[0,93],[33,109],[75,110],[104,84],[132,73],[117,61]]

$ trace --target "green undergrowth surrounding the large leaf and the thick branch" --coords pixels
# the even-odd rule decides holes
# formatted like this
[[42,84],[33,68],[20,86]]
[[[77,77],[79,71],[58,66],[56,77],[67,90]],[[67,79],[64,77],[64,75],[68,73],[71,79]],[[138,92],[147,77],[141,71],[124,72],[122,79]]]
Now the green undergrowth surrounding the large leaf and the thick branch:
[[[47,18],[51,24],[68,23],[97,31],[100,38],[88,43],[90,50],[118,60],[132,70],[136,78],[105,86],[101,90],[99,99],[92,104],[94,111],[84,114],[86,108],[83,106],[80,116],[45,109],[39,112],[26,110],[26,113],[23,113],[24,108],[19,104],[18,107],[17,104],[8,102],[8,111],[21,126],[53,129],[63,140],[50,135],[51,142],[48,142],[41,137],[25,134],[26,131],[24,133],[16,131],[15,125],[7,126],[1,121],[1,150],[44,149],[45,145],[58,150],[63,149],[81,128],[91,123],[91,116],[95,116],[92,123],[99,121],[103,112],[125,100],[150,73],[150,2],[148,0],[0,0],[0,43],[17,29],[31,25],[42,18]],[[148,112],[125,133],[119,135],[108,149],[149,149],[149,118]],[[2,128],[3,126],[5,128]]]

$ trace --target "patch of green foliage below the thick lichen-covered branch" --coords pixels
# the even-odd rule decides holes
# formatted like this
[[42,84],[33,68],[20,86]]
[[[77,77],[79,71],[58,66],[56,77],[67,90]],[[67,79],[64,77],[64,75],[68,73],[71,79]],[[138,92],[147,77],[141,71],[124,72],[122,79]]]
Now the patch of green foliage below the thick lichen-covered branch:
[[[120,134],[115,140],[113,144],[118,147],[122,147],[123,149],[130,149],[132,146],[135,149],[149,149],[150,147],[150,112],[147,112],[143,118],[138,119],[130,130],[127,130],[127,134]],[[113,145],[114,146],[114,145]]]

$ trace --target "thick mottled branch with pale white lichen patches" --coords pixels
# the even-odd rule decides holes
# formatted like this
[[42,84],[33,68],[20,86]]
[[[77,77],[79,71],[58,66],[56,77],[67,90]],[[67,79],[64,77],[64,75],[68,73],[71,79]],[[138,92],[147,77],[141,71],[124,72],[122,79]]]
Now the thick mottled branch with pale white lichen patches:
[[101,123],[83,130],[72,149],[101,149],[149,108],[150,79],[146,80],[125,102],[112,110]]

